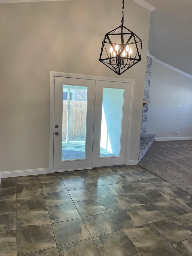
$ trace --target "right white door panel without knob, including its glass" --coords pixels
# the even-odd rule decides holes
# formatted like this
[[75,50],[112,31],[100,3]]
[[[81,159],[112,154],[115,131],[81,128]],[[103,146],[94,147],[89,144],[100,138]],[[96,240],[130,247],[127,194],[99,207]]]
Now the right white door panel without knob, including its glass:
[[92,168],[126,163],[131,86],[96,81]]

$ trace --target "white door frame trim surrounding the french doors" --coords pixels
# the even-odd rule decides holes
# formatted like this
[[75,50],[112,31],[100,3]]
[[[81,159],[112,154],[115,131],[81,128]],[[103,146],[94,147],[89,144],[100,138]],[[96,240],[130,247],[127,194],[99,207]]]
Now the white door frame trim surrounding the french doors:
[[55,77],[69,77],[80,78],[89,80],[111,81],[111,82],[123,82],[131,85],[131,97],[128,112],[128,143],[127,143],[127,157],[126,165],[130,159],[130,143],[131,143],[131,125],[132,125],[132,113],[133,113],[133,99],[134,99],[134,79],[114,78],[114,77],[98,77],[81,74],[70,74],[63,72],[50,71],[50,109],[49,109],[49,173],[53,172],[53,143],[54,143],[54,82]]

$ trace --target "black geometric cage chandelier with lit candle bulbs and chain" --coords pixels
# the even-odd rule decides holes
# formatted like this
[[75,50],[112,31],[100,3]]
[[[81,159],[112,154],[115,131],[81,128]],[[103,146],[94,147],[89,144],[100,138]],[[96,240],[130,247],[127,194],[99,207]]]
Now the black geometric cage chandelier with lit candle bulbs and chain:
[[105,35],[99,58],[99,61],[118,75],[121,75],[141,60],[142,48],[142,40],[123,25],[124,0],[122,3],[121,26]]

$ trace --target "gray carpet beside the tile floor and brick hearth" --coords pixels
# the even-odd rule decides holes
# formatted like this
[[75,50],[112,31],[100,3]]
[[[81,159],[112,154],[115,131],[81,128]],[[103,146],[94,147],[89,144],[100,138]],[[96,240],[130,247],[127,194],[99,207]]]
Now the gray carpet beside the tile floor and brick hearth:
[[139,165],[192,194],[191,140],[155,141]]

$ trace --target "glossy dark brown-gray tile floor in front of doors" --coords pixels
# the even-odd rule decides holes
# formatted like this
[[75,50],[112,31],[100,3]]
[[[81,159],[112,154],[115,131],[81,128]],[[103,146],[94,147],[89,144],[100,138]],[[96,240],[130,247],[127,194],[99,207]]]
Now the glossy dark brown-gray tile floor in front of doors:
[[142,167],[4,178],[1,256],[191,256],[191,196]]

